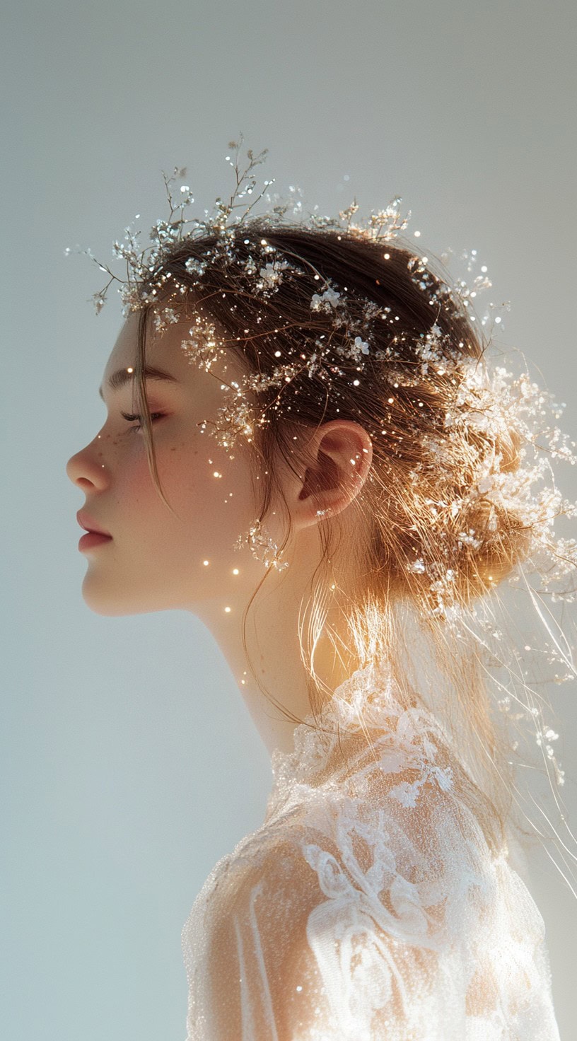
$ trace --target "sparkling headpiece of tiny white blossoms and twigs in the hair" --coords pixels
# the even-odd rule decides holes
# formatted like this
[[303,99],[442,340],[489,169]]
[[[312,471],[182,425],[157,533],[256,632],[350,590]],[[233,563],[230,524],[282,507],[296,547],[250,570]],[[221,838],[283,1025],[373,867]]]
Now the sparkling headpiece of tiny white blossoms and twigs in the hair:
[[[288,196],[280,198],[271,194],[273,179],[265,180],[262,189],[257,192],[257,178],[253,171],[256,166],[265,161],[268,150],[265,149],[258,155],[254,155],[248,149],[249,162],[243,171],[239,163],[241,144],[242,137],[241,143],[230,142],[229,149],[234,150],[235,154],[234,157],[226,155],[226,161],[232,167],[235,176],[234,191],[229,201],[217,198],[212,212],[205,210],[202,220],[187,215],[189,207],[195,200],[190,186],[186,183],[179,183],[186,177],[186,168],[175,168],[170,178],[162,174],[170,212],[165,220],[157,220],[151,228],[151,245],[142,248],[140,231],[133,230],[130,226],[124,229],[124,240],[114,243],[112,254],[125,261],[126,278],[121,278],[107,264],[97,260],[90,249],[80,250],[77,247],[74,251],[70,248],[65,250],[67,255],[71,252],[86,253],[102,272],[109,275],[106,285],[92,298],[97,313],[105,303],[109,286],[112,282],[117,282],[123,303],[123,314],[148,308],[153,315],[155,333],[161,335],[171,324],[179,321],[181,313],[179,305],[185,295],[192,287],[202,285],[210,265],[217,262],[230,268],[232,291],[235,266],[242,264],[243,278],[251,280],[254,297],[264,301],[271,300],[285,280],[294,279],[298,282],[304,274],[302,259],[278,250],[267,239],[266,229],[274,231],[281,228],[287,214],[291,215],[293,226],[298,224],[299,227],[309,229],[330,229],[343,236],[370,239],[382,246],[384,258],[387,257],[387,245],[406,229],[410,211],[405,217],[401,215],[399,207],[402,199],[398,196],[394,197],[384,209],[372,212],[365,220],[357,218],[359,207],[356,199],[353,199],[346,209],[340,211],[338,218],[321,215],[318,206],[305,217],[300,188],[291,186]],[[258,239],[253,236],[250,240],[250,251],[247,253],[249,239],[244,240],[243,232],[256,217],[255,207],[264,198],[269,203],[269,208],[265,212],[259,212],[257,220],[258,227],[264,229],[265,233]],[[140,214],[136,214],[136,219],[139,217]],[[419,234],[415,232],[416,237],[419,237]],[[200,257],[195,253],[194,257],[185,261],[184,266],[189,277],[186,285],[183,285],[174,275],[167,273],[166,261],[174,255],[175,249],[187,239],[201,239],[209,245],[203,248]],[[448,259],[450,252],[452,251],[443,254],[443,259]],[[461,259],[467,263],[467,272],[473,277],[469,282],[457,279],[450,286],[447,282],[431,277],[426,256],[416,253],[412,246],[409,249],[410,277],[423,293],[428,295],[431,304],[430,328],[417,340],[415,350],[418,365],[412,373],[407,372],[406,366],[396,364],[398,358],[396,345],[401,337],[395,333],[395,314],[392,308],[377,304],[370,297],[363,300],[358,296],[353,298],[347,294],[346,286],[337,285],[330,278],[325,278],[317,272],[313,275],[317,288],[310,295],[309,310],[311,315],[319,313],[329,318],[334,337],[319,335],[315,339],[309,339],[304,348],[299,341],[294,356],[279,360],[277,369],[272,374],[251,373],[232,387],[223,386],[226,400],[220,411],[224,422],[222,426],[218,425],[209,432],[226,450],[231,449],[240,436],[252,440],[257,427],[270,420],[270,410],[259,410],[254,404],[255,397],[257,399],[259,392],[273,387],[282,390],[290,386],[297,374],[302,375],[303,372],[307,372],[311,378],[321,379],[327,393],[330,392],[332,378],[335,375],[342,377],[345,371],[350,370],[352,381],[358,385],[362,380],[368,359],[373,362],[380,360],[388,366],[395,387],[421,385],[423,380],[429,378],[434,383],[437,377],[450,377],[454,372],[458,375],[458,380],[453,381],[456,387],[454,407],[445,415],[445,434],[450,437],[451,431],[457,433],[463,425],[470,431],[478,430],[485,434],[498,434],[499,430],[506,427],[519,435],[523,449],[519,465],[515,471],[507,472],[501,468],[499,455],[480,453],[475,480],[463,492],[461,501],[458,503],[428,501],[430,524],[434,527],[444,510],[454,516],[466,501],[473,502],[482,497],[485,503],[492,504],[486,526],[488,533],[492,531],[492,526],[496,527],[498,508],[515,512],[527,526],[531,542],[525,563],[529,562],[542,581],[538,591],[530,590],[531,599],[552,636],[552,643],[548,645],[546,652],[549,654],[548,660],[560,663],[566,669],[562,675],[555,675],[555,682],[560,683],[573,680],[575,677],[571,649],[567,641],[561,645],[562,640],[549,630],[544,613],[551,614],[551,612],[542,611],[537,605],[537,596],[548,593],[551,603],[561,600],[573,603],[576,598],[575,589],[568,585],[567,579],[573,575],[577,565],[577,541],[555,538],[552,530],[553,520],[557,515],[565,514],[568,517],[577,515],[577,503],[569,502],[561,497],[552,477],[553,460],[565,460],[575,464],[577,457],[572,451],[575,442],[569,441],[556,423],[566,404],[555,402],[548,391],[532,381],[527,372],[516,377],[502,364],[493,367],[479,364],[478,358],[468,357],[462,351],[456,353],[447,347],[436,318],[442,309],[450,309],[455,300],[458,299],[461,313],[465,309],[472,324],[481,328],[487,327],[490,335],[501,326],[502,316],[498,312],[508,309],[507,304],[497,306],[492,303],[482,318],[478,319],[475,313],[476,298],[490,288],[492,282],[486,274],[486,265],[482,265],[478,273],[475,273],[478,264],[476,250],[465,252]],[[310,272],[307,274],[310,277]],[[195,315],[189,336],[182,340],[182,349],[192,363],[209,371],[214,360],[224,355],[227,341],[219,334],[216,326],[200,313]],[[385,350],[377,348],[373,338],[377,323],[387,323],[392,327],[390,345]],[[280,356],[280,352],[278,354]],[[390,399],[390,403],[392,402],[393,399]],[[277,413],[279,408],[282,409],[280,392],[275,406]],[[292,417],[294,414],[293,409]],[[385,416],[383,416],[384,425]],[[434,437],[428,438],[424,446],[423,458],[429,467],[438,466],[441,473],[444,465],[443,446]],[[423,462],[415,468],[410,480],[419,481],[419,469],[422,465]],[[552,483],[549,485],[546,483],[544,487],[537,489],[540,482],[548,476],[552,478]],[[462,530],[457,532],[455,537],[455,549],[462,550],[466,544],[473,548],[480,545],[475,530]],[[278,547],[268,538],[259,520],[251,527],[247,541],[255,556],[264,560],[267,566],[273,564],[279,569],[287,566],[285,561],[281,561]],[[451,561],[450,554],[451,545],[448,545],[446,553],[448,564]],[[454,606],[450,595],[454,568],[447,566],[443,573],[435,572],[434,566],[422,556],[408,566],[415,572],[430,570],[432,613],[442,615],[458,633],[459,609]],[[507,581],[511,585],[523,581],[528,587],[525,570],[521,566],[513,569]],[[479,639],[486,652],[487,661],[498,660],[502,634],[496,627],[494,617],[491,615],[485,618],[477,617],[477,621],[481,631]],[[524,716],[533,719],[537,745],[553,766],[556,784],[562,785],[563,771],[551,744],[558,735],[543,722],[540,718],[541,709],[534,705],[521,705],[518,701],[516,707],[520,711],[515,718]],[[505,692],[499,700],[499,708],[503,712],[510,712],[510,694]]]

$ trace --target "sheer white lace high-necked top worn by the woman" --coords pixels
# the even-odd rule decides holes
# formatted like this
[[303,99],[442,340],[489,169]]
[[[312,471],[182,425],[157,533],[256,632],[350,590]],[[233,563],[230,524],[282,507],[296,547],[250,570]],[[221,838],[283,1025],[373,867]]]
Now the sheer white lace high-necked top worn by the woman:
[[186,1041],[559,1041],[543,917],[434,717],[369,666],[322,726],[194,903]]

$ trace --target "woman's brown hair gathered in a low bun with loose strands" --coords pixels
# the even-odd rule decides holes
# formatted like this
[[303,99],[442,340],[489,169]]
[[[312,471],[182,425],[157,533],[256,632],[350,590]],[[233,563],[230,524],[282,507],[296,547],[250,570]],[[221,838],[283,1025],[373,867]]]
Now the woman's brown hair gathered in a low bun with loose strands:
[[[269,296],[255,294],[250,270],[251,258],[261,255],[262,239],[300,272],[298,279],[283,278]],[[280,389],[276,386],[258,395],[268,418],[266,425],[256,427],[252,441],[258,474],[255,489],[261,494],[258,517],[267,517],[275,493],[282,498],[279,459],[297,473],[295,429],[347,418],[367,430],[373,443],[370,478],[350,507],[362,519],[358,530],[368,531],[367,538],[351,547],[358,582],[343,607],[350,646],[365,662],[385,655],[403,696],[407,702],[419,697],[410,677],[410,656],[404,661],[401,656],[402,646],[407,649],[402,612],[413,613],[423,636],[430,637],[436,664],[454,690],[455,705],[462,709],[459,722],[453,713],[447,720],[465,759],[469,748],[471,772],[477,770],[475,781],[461,776],[461,787],[477,802],[493,847],[500,848],[511,806],[511,748],[491,717],[476,648],[448,637],[443,611],[434,611],[438,593],[431,591],[431,578],[441,581],[451,568],[454,603],[470,606],[511,572],[529,545],[530,529],[515,511],[496,506],[482,493],[469,494],[481,455],[500,457],[501,472],[516,468],[520,436],[505,426],[495,433],[491,427],[482,430],[453,422],[460,407],[463,376],[459,374],[467,366],[482,365],[488,345],[481,342],[459,295],[408,246],[322,227],[279,223],[273,228],[255,218],[236,233],[232,258],[222,253],[206,263],[217,247],[217,236],[206,233],[182,239],[162,259],[166,293],[164,288],[156,295],[151,291],[152,279],[143,284],[147,302],[139,324],[135,377],[155,486],[162,496],[143,370],[147,315],[156,302],[176,286],[178,306],[185,312],[190,305],[200,308],[224,332],[230,350],[248,371],[265,377],[278,369],[279,356],[281,361],[308,358],[311,342],[325,345],[330,389],[321,372],[310,373],[303,362]],[[360,314],[367,300],[379,309],[388,308],[386,321],[379,314],[373,323],[371,352],[363,358],[358,385],[354,359],[344,360],[337,350],[344,334],[334,329],[330,314],[310,308],[311,295],[325,280],[346,295],[352,313],[357,308]],[[437,365],[433,373],[418,352],[434,323],[442,333],[438,349],[447,367],[443,371]],[[319,522],[322,559],[311,580],[309,601],[315,619],[312,646],[326,618],[330,591],[341,589],[333,572],[338,520]],[[290,536],[288,530],[286,541]],[[244,615],[245,650],[247,613],[261,584]],[[305,649],[302,654],[315,711],[320,687],[313,654]],[[468,735],[461,729],[462,719]],[[494,826],[500,827],[500,834]]]

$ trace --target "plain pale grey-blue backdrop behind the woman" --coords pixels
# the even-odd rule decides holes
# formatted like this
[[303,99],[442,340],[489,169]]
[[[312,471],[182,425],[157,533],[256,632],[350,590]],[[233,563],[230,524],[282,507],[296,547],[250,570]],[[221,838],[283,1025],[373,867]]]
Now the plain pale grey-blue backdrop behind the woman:
[[[476,248],[504,346],[575,385],[576,15],[567,2],[3,3],[2,836],[10,1041],[183,1041],[180,930],[215,861],[261,820],[268,755],[217,646],[184,612],[93,614],[68,458],[100,428],[121,325],[105,276],[136,212],[187,166],[198,212],[227,145],[334,213],[402,195],[420,248]],[[347,180],[349,178],[349,180]],[[562,467],[576,496],[575,471]],[[575,697],[553,690],[575,779]],[[563,753],[563,754],[561,754]],[[575,780],[566,786],[575,820]],[[563,1041],[576,902],[534,861]],[[572,1026],[573,1023],[573,1026]]]

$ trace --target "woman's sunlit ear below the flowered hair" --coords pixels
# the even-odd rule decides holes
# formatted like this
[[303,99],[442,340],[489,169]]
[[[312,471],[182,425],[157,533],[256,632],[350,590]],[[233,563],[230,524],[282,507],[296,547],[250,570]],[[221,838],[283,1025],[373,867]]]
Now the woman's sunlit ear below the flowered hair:
[[360,424],[331,420],[315,431],[303,456],[304,474],[291,489],[293,519],[298,528],[346,509],[367,480],[373,443]]

